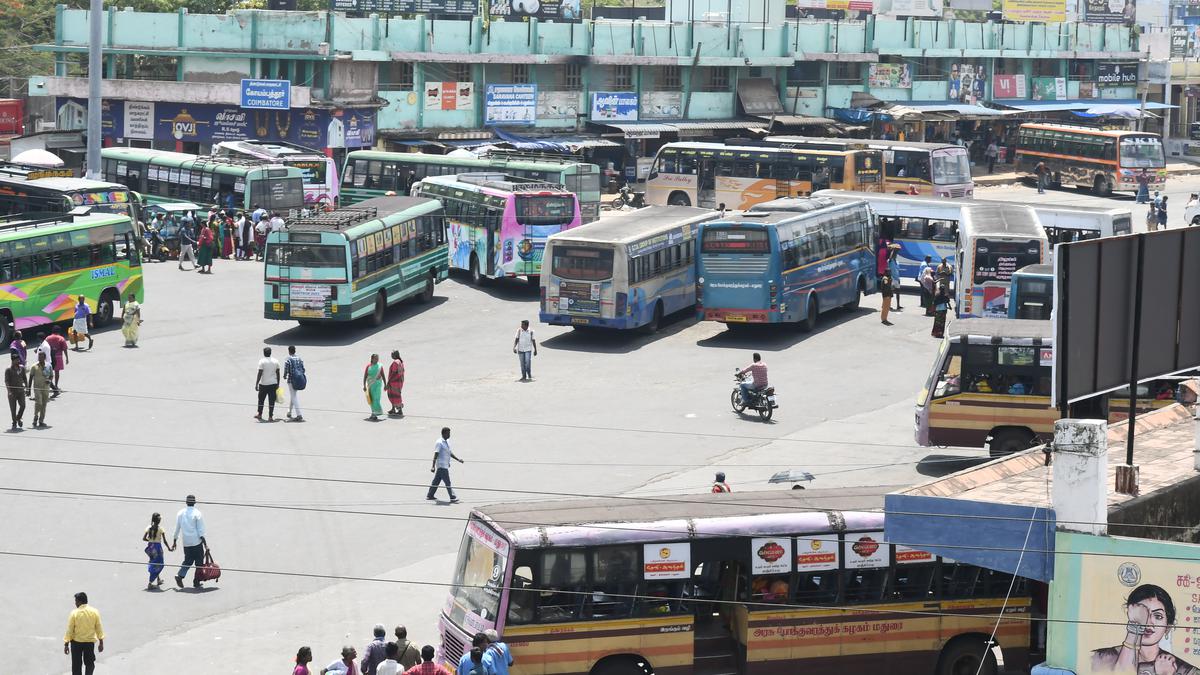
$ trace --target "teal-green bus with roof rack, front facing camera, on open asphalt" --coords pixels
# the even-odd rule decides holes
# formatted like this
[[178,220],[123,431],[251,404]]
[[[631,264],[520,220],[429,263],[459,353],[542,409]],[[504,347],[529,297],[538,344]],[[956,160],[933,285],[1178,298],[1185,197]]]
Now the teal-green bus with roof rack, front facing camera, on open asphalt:
[[389,305],[432,300],[449,270],[442,203],[376,197],[266,235],[264,315],[379,325]]

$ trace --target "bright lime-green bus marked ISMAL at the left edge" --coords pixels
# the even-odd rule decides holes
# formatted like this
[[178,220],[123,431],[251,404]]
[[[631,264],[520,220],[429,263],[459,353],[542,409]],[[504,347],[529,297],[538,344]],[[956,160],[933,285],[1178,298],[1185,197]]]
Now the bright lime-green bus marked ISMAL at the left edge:
[[88,213],[0,219],[0,345],[14,330],[70,322],[79,295],[97,327],[113,319],[130,293],[143,299],[142,259],[133,221]]

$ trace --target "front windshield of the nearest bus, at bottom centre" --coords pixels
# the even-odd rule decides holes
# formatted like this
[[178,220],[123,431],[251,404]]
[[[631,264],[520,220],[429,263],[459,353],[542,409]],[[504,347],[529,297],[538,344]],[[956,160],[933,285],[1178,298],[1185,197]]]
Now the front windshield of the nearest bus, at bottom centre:
[[458,546],[454,586],[450,589],[455,604],[450,619],[455,623],[482,629],[479,621],[468,619],[468,615],[478,616],[487,625],[496,622],[508,545],[508,542],[482,522],[467,522],[462,545]]

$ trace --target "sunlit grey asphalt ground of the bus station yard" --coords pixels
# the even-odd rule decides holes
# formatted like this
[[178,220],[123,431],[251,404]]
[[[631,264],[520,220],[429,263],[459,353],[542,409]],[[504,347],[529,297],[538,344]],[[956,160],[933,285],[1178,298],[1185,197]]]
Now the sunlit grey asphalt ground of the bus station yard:
[[[1194,189],[1200,179],[1172,181],[1172,215]],[[1024,186],[979,196],[1037,198]],[[781,470],[811,472],[815,488],[911,484],[986,455],[912,442],[912,401],[936,348],[912,295],[893,327],[881,325],[876,295],[822,316],[812,334],[732,334],[691,317],[654,336],[536,325],[535,381],[521,383],[512,338],[522,318],[536,323],[536,291],[523,283],[452,279],[379,329],[308,329],[262,317],[258,264],[215,270],[148,265],[140,347],[101,333],[94,351],[72,354],[50,429],[0,435],[2,670],[68,670],[60,641],[79,590],[108,632],[98,673],[286,673],[300,645],[319,668],[343,643],[361,650],[376,622],[437,644],[472,506],[704,492],[716,468],[734,490],[764,489]],[[264,345],[281,357],[296,345],[305,358],[306,423],[251,418]],[[366,422],[362,369],[394,348],[408,417]],[[752,351],[779,389],[770,424],[728,407],[731,370]],[[443,425],[467,461],[452,470],[461,504],[424,498]],[[188,492],[227,572],[194,592],[169,587],[168,568],[168,587],[145,591],[142,531],[151,512],[169,526]]]

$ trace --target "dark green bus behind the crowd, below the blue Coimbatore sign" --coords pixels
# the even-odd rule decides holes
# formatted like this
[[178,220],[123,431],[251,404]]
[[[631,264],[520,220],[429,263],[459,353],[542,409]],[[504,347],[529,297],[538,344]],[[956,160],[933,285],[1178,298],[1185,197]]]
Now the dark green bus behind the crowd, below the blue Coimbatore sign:
[[304,172],[268,160],[211,157],[149,150],[103,148],[104,180],[140,192],[150,204],[194,202],[224,209],[287,213],[304,207]]

